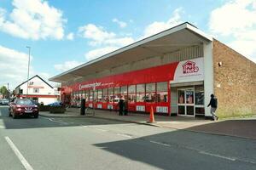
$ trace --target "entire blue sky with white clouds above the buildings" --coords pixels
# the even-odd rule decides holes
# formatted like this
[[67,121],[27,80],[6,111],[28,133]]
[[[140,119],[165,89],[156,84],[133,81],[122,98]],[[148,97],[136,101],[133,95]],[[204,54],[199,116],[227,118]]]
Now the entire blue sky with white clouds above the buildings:
[[26,81],[26,47],[48,80],[183,22],[256,62],[256,0],[0,0],[0,86]]

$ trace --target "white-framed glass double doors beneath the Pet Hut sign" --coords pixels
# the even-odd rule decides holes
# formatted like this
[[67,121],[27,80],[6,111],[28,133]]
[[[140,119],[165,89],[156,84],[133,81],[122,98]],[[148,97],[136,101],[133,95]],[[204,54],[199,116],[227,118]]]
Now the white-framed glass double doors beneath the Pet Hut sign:
[[177,88],[177,114],[195,116],[195,88]]

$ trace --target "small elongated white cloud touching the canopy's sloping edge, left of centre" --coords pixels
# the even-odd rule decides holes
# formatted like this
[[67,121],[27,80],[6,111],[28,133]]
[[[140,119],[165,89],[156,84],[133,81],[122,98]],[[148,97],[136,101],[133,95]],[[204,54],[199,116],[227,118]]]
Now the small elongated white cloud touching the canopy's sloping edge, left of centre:
[[84,54],[84,57],[88,60],[96,59],[104,54],[108,54],[113,52],[114,50],[118,49],[119,47],[105,47],[105,48],[96,48],[90,50],[88,53]]

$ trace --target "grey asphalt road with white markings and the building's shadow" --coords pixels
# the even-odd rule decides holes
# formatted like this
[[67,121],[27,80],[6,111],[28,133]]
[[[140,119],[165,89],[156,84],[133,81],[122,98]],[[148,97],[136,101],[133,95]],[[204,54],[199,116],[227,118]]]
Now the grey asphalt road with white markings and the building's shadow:
[[0,169],[256,170],[256,141],[89,117],[12,119],[0,106]]

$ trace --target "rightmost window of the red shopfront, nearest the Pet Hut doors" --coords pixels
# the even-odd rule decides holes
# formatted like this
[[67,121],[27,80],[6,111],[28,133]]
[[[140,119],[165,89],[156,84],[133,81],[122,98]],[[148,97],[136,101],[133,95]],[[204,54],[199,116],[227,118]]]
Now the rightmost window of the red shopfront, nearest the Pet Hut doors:
[[168,83],[157,82],[156,84],[156,99],[157,102],[168,102]]

